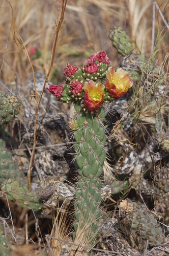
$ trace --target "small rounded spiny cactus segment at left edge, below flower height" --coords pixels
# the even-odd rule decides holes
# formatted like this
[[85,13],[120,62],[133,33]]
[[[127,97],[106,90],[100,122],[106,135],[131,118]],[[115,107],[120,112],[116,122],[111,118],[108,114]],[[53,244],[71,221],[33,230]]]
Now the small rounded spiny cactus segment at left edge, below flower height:
[[6,124],[13,120],[20,111],[20,105],[16,96],[5,97],[0,93],[0,124]]

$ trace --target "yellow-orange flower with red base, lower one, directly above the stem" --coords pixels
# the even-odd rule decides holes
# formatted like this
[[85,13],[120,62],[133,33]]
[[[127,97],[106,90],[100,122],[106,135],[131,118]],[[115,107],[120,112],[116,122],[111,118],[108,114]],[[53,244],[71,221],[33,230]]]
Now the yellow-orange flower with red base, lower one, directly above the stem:
[[104,85],[100,82],[94,82],[90,80],[85,82],[83,87],[84,93],[84,103],[88,110],[96,110],[103,103],[104,99]]

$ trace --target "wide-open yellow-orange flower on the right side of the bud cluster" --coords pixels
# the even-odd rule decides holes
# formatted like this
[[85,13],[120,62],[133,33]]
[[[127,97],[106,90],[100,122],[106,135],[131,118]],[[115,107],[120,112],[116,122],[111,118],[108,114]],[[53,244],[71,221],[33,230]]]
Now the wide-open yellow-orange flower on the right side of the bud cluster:
[[133,81],[127,72],[121,68],[115,72],[114,67],[109,67],[106,74],[105,88],[112,98],[120,98],[129,88],[133,86]]

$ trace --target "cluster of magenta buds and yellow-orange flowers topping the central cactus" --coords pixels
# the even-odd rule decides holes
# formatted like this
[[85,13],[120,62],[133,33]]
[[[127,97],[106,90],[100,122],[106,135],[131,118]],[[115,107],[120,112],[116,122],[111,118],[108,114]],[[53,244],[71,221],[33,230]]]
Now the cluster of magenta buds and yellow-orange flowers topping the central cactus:
[[110,67],[104,51],[91,55],[83,67],[68,63],[63,73],[65,82],[50,84],[46,90],[62,102],[80,102],[81,108],[87,111],[97,110],[103,102],[112,102],[133,86],[125,70],[119,68],[115,72],[114,67]]

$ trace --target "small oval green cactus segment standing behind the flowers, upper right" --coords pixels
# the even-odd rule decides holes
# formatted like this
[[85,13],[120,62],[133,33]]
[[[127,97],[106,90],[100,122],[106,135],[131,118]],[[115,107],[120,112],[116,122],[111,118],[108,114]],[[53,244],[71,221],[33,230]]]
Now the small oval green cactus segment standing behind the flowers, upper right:
[[121,27],[115,27],[110,30],[109,38],[112,41],[112,46],[114,46],[122,56],[131,53],[132,45],[129,36],[126,35],[126,32],[123,31]]

